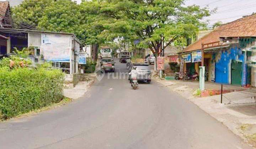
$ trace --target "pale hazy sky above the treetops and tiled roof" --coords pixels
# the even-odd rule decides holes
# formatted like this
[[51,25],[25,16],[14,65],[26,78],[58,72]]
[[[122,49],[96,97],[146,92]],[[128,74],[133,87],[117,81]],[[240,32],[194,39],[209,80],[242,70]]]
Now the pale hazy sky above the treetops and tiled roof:
[[[2,1],[2,0],[0,0]],[[22,0],[9,0],[10,5],[18,5]],[[81,0],[73,0],[78,4]],[[228,23],[237,20],[245,15],[250,15],[256,12],[256,0],[187,0],[185,5],[199,5],[201,7],[208,6],[210,10],[217,8],[217,12],[209,17],[204,18],[203,21],[209,21],[209,26],[215,22],[221,21]]]

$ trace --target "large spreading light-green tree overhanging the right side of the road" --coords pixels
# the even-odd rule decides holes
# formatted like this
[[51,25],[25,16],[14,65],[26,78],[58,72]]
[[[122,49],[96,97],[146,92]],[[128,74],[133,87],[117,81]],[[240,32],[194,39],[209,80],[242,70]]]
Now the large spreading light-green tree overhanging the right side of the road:
[[115,20],[104,24],[106,35],[140,39],[139,46],[147,46],[158,56],[161,35],[164,36],[166,48],[206,25],[201,20],[211,12],[196,5],[185,6],[184,1],[102,0],[101,15]]

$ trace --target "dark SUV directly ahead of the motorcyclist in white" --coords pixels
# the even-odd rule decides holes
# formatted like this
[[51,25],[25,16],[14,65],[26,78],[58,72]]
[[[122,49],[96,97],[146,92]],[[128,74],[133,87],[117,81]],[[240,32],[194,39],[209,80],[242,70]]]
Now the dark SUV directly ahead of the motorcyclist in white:
[[[132,64],[132,67],[130,67],[130,70],[133,68],[133,66],[137,67],[137,80],[138,81],[145,81],[146,83],[151,83],[151,70],[148,64],[142,64],[142,63],[134,63]],[[131,79],[131,76],[129,75],[129,80]]]

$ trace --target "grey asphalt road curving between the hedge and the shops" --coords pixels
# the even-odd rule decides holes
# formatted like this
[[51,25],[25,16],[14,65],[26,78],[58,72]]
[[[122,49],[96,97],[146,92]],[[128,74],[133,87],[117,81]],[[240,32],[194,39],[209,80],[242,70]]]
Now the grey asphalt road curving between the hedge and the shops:
[[[116,63],[117,72],[127,71]],[[0,123],[0,149],[247,149],[190,101],[161,84],[96,81],[82,98]]]

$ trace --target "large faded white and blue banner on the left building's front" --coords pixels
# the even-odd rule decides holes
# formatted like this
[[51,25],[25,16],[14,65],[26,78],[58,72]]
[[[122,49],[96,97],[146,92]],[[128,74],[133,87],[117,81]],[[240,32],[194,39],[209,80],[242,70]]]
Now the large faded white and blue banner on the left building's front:
[[70,62],[70,35],[41,34],[41,51],[46,61]]

